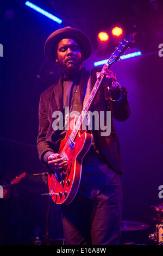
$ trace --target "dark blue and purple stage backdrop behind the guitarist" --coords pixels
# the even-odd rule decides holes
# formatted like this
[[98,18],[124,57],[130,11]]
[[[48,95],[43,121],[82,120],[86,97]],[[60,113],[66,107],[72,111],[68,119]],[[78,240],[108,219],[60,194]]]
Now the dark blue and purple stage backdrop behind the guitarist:
[[[34,173],[47,172],[37,156],[38,105],[41,92],[56,82],[60,69],[45,59],[43,46],[56,29],[72,26],[84,31],[92,42],[92,56],[84,63],[106,59],[121,39],[100,45],[97,33],[117,25],[124,33],[135,33],[130,52],[142,55],[121,60],[111,70],[128,91],[130,118],[115,121],[126,171],[123,181],[123,220],[149,224],[149,229],[123,231],[123,242],[152,244],[148,233],[155,222],[148,215],[158,196],[162,179],[162,70],[159,44],[163,44],[162,1],[154,10],[150,1],[33,1],[62,20],[57,25],[24,5],[6,1],[1,8],[0,43],[3,44],[1,68],[1,184],[27,172],[11,188],[11,196],[1,199],[0,244],[31,244],[36,236],[45,239],[47,197],[46,182]],[[1,185],[0,184],[0,185]],[[49,237],[63,237],[60,206],[52,200],[49,210]]]

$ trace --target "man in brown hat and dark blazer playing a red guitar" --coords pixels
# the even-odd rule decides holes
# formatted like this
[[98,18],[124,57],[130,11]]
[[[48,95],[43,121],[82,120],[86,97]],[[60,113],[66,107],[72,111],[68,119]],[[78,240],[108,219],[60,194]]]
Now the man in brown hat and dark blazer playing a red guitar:
[[[101,70],[89,72],[82,67],[83,61],[91,54],[91,44],[87,36],[75,28],[66,27],[53,32],[46,40],[45,54],[59,64],[62,74],[58,83],[40,96],[37,149],[40,160],[49,168],[49,175],[55,174],[54,179],[64,184],[64,180],[58,177],[66,172],[68,162],[58,150],[66,131],[55,129],[53,113],[64,113],[66,107],[70,112],[81,113],[86,97],[101,77]],[[108,68],[103,70],[103,75],[102,86],[90,110],[99,114],[111,111],[111,133],[102,136],[101,126],[99,130],[92,128],[89,131],[92,140],[81,161],[78,192],[68,205],[61,204],[65,245],[120,244],[121,174],[124,167],[112,118],[126,120],[130,109],[126,89],[117,83],[116,76]]]

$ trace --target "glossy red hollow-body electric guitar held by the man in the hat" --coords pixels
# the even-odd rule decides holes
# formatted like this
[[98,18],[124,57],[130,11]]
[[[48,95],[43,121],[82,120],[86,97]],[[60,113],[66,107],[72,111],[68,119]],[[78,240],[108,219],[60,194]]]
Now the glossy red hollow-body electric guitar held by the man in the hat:
[[132,41],[133,36],[129,34],[122,40],[120,45],[118,45],[114,53],[112,53],[108,59],[108,62],[104,64],[101,77],[97,79],[80,116],[77,119],[74,115],[73,118],[70,119],[69,129],[66,132],[65,138],[62,139],[58,151],[58,154],[67,160],[67,168],[64,172],[54,173],[51,176],[48,175],[48,195],[51,196],[53,201],[57,204],[70,204],[78,192],[82,176],[82,162],[92,143],[92,134],[82,131],[80,127],[82,127],[86,113],[89,111],[91,103],[102,84],[104,69],[106,67],[110,68],[112,63],[120,59],[121,55]]

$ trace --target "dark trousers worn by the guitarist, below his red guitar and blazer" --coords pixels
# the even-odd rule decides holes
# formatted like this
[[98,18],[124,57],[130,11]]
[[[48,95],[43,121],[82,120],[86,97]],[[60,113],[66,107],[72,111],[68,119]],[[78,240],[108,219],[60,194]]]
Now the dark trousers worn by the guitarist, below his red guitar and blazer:
[[122,217],[121,175],[93,198],[77,193],[62,205],[65,245],[119,245]]

